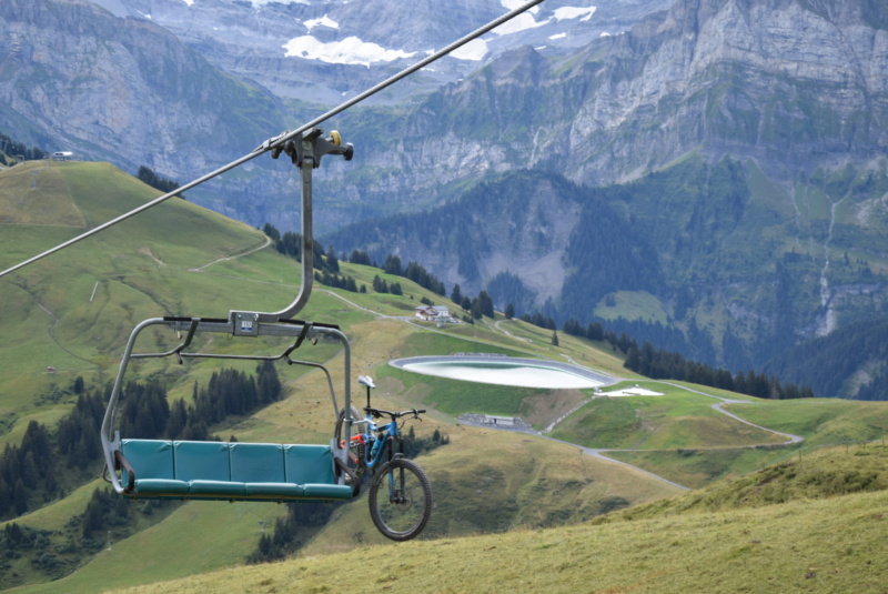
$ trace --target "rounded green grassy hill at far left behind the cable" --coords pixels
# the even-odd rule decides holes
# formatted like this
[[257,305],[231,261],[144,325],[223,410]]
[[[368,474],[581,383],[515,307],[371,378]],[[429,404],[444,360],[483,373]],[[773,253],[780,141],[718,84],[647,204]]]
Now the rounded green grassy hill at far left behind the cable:
[[[107,163],[34,161],[0,172],[0,265],[6,269],[157,195]],[[270,303],[275,294],[284,301],[290,289],[235,294],[223,281],[189,270],[265,241],[242,223],[182,200],[168,201],[4,278],[3,301],[16,306],[3,312],[9,333],[0,382],[14,393],[16,386],[42,390],[70,383],[78,374],[91,379],[107,372],[127,334],[150,315],[224,315],[230,302]],[[48,375],[50,366],[54,373]]]

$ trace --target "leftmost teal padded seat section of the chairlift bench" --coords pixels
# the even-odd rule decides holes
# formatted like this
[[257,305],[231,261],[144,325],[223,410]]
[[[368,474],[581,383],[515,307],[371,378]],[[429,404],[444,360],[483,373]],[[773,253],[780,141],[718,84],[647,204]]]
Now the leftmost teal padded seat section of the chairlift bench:
[[[132,493],[140,495],[185,495],[189,485],[176,480],[173,444],[163,440],[122,440],[120,451],[132,466],[135,481]],[[127,469],[121,469],[121,482],[129,484]]]

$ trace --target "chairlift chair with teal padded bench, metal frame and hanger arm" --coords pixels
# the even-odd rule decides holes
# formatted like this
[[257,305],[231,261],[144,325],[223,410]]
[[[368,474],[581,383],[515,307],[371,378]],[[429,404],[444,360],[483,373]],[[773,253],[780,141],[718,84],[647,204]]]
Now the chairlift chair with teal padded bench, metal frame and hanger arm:
[[[336,325],[312,323],[293,318],[309,301],[313,281],[312,170],[325,154],[351,160],[354,149],[342,145],[340,134],[323,137],[321,129],[297,135],[272,150],[290,155],[302,172],[302,282],[296,299],[279,312],[231,311],[228,319],[153,318],[130,334],[101,427],[105,477],[119,494],[131,499],[180,499],[223,501],[347,501],[359,493],[360,481],[349,470],[347,452],[335,439],[330,444],[224,443],[211,441],[145,440],[120,435],[115,425],[123,377],[131,360],[175,356],[184,359],[233,359],[275,361],[319,368],[326,374],[333,404],[333,421],[339,414],[335,390],[324,365],[295,361],[291,354],[305,342],[320,338],[339,340],[344,356],[344,410],[351,411],[351,350]],[[167,352],[135,353],[134,344],[147,328],[164,325],[184,333],[181,344]],[[292,343],[281,354],[253,356],[188,351],[199,332],[224,333],[238,338],[283,336]],[[372,383],[372,381],[371,381]],[[352,415],[346,413],[345,443],[351,435]],[[333,423],[331,423],[331,426]]]

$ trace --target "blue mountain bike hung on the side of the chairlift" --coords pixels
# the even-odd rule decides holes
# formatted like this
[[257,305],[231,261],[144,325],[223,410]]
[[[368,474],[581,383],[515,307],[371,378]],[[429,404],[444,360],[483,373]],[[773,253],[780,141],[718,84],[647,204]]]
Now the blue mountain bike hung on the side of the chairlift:
[[[359,381],[367,385],[369,404],[372,381],[369,377]],[[354,413],[353,417],[356,416]],[[420,419],[425,411],[411,409],[395,412],[367,405],[364,413],[363,420],[353,422],[353,426],[364,427],[349,442],[349,461],[355,475],[353,480],[360,481],[367,470],[373,472],[367,494],[373,524],[393,541],[408,541],[425,528],[432,515],[432,485],[422,467],[404,456],[401,427],[408,420]],[[382,417],[389,417],[390,421],[376,424],[375,420]],[[343,410],[335,431],[340,447],[345,447],[342,440],[344,424]]]

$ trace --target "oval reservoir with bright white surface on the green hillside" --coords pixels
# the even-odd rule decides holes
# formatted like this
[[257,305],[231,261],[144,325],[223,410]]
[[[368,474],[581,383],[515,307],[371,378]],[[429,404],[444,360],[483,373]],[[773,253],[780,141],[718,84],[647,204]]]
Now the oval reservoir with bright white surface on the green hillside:
[[395,368],[452,380],[553,390],[589,389],[614,383],[603,373],[538,359],[490,355],[414,356],[391,362]]

